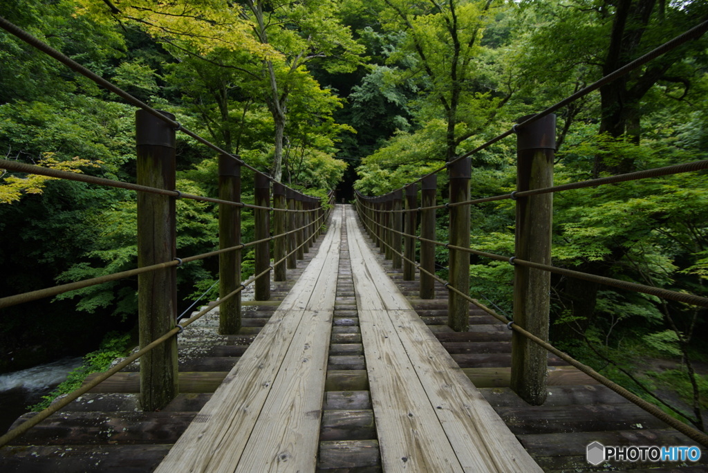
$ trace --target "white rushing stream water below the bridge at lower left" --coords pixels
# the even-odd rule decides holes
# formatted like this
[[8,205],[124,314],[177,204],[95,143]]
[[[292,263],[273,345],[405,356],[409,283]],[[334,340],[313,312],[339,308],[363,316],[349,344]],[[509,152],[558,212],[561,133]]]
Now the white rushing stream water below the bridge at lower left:
[[67,379],[82,358],[62,358],[52,363],[26,370],[0,375],[0,434],[28,411],[27,406],[37,404],[42,396],[52,392],[57,384]]

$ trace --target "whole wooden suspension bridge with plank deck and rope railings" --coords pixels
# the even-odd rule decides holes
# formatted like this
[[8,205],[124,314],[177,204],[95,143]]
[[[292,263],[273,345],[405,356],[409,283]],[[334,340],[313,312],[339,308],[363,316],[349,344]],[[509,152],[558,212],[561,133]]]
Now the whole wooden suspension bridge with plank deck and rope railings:
[[[10,171],[135,191],[138,267],[4,297],[0,309],[137,276],[141,336],[139,350],[111,370],[19,418],[0,438],[3,471],[706,469],[704,433],[557,350],[547,329],[551,273],[708,307],[704,297],[558,268],[550,258],[554,193],[702,171],[708,161],[554,186],[552,113],[564,101],[489,142],[517,137],[511,193],[469,195],[474,150],[393,193],[334,205],[333,194],[322,202],[273,181],[1,18],[0,26],[139,108],[135,184],[0,160]],[[176,189],[177,131],[220,154],[219,198]],[[253,172],[253,204],[241,200],[242,171]],[[443,171],[450,198],[438,205]],[[219,205],[219,249],[178,256],[178,198]],[[514,255],[471,249],[470,206],[506,199],[516,205]],[[256,220],[248,243],[244,210]],[[448,241],[435,241],[435,212],[449,216]],[[449,280],[435,273],[435,246],[448,251]],[[255,275],[242,282],[241,251],[250,247]],[[470,254],[514,266],[513,319],[469,296]],[[178,321],[176,268],[217,256],[221,297]],[[627,450],[608,464],[598,458],[604,446]],[[687,448],[683,458],[633,457],[632,447],[648,446]]]

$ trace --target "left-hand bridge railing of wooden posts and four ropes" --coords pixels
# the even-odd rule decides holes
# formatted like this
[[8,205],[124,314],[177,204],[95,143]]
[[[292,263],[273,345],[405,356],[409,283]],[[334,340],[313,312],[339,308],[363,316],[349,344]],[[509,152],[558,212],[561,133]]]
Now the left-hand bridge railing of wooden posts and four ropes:
[[[2,297],[0,309],[137,276],[139,318],[137,353],[133,353],[80,389],[59,399],[50,408],[2,435],[1,447],[138,358],[140,358],[142,408],[146,411],[154,411],[164,407],[176,397],[179,390],[177,334],[219,306],[219,333],[237,334],[241,328],[241,292],[248,285],[253,284],[256,300],[270,299],[270,273],[273,273],[273,280],[284,281],[287,278],[287,269],[297,267],[297,260],[304,258],[304,253],[309,251],[327,221],[334,194],[330,192],[326,201],[322,202],[320,198],[304,195],[289,188],[253,166],[249,166],[239,159],[239,156],[229,154],[207,139],[185,129],[176,122],[174,115],[147,106],[1,17],[0,27],[139,108],[136,111],[135,134],[136,183],[0,159],[0,169],[8,171],[135,191],[138,253],[135,269]],[[219,198],[183,193],[176,188],[177,131],[195,138],[219,153]],[[253,204],[241,200],[241,172],[244,168],[253,172],[255,195]],[[178,255],[177,199],[193,199],[218,204],[218,249],[193,256]],[[252,210],[256,221],[255,239],[248,243],[241,241],[241,210],[243,209]],[[241,253],[251,247],[255,248],[256,253],[255,275],[242,282]],[[177,268],[183,264],[214,256],[219,256],[219,300],[211,302],[192,317],[178,321]]]

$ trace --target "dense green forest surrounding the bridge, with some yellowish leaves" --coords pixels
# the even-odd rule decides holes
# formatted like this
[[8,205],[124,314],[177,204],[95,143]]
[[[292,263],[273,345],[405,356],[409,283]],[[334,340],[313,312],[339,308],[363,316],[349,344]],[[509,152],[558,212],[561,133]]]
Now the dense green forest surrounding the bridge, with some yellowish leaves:
[[[353,188],[400,188],[509,130],[705,21],[708,1],[4,0],[0,14],[277,180],[350,199]],[[707,47],[688,42],[560,110],[555,182],[708,159]],[[134,116],[0,33],[5,159],[134,182]],[[177,153],[178,188],[216,196],[217,156],[184,135]],[[510,192],[514,140],[474,154],[472,167],[473,198]],[[135,193],[0,176],[0,297],[135,267]],[[708,296],[707,182],[685,173],[556,195],[554,265]],[[444,202],[444,175],[438,183]],[[514,207],[501,202],[472,207],[472,246],[512,255]],[[215,206],[177,206],[178,251],[218,246]],[[445,241],[444,212],[438,223]],[[252,230],[246,220],[244,241]],[[437,259],[445,277],[444,249]],[[185,308],[215,283],[216,264],[178,272]],[[511,313],[512,280],[507,263],[472,260],[470,294],[501,312]],[[130,332],[136,290],[121,280],[5,309],[0,370]],[[700,428],[705,316],[552,278],[552,342],[648,399],[673,387],[661,395]]]

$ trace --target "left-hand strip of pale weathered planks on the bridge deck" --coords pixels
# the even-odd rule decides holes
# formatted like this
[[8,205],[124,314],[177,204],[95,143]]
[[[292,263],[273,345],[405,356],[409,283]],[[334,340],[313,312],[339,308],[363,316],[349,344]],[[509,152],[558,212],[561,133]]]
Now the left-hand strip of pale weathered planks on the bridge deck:
[[314,309],[334,304],[340,234],[336,214],[319,253],[156,472],[314,469],[332,318]]

